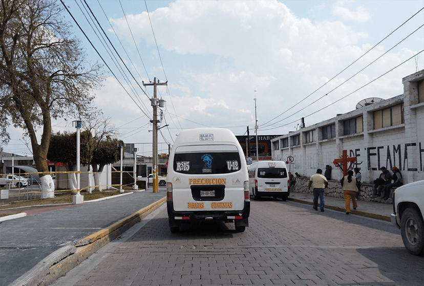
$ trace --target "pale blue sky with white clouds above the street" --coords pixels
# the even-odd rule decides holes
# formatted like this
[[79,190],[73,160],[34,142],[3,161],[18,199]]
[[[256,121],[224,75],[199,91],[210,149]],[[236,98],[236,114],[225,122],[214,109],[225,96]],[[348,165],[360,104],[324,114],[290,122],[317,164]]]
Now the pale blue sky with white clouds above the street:
[[[353,111],[363,99],[400,95],[402,78],[424,69],[424,0],[87,3],[114,48],[98,39],[83,0],[65,4],[94,48],[66,10],[63,17],[88,58],[107,71],[92,91],[94,105],[118,139],[135,143],[143,156],[152,156],[153,119],[153,86],[143,82],[154,78],[167,82],[157,87],[166,101],[158,149],[167,153],[187,128],[246,135],[248,127],[252,135],[258,125],[258,135],[287,134],[301,118],[313,125]],[[119,72],[105,47],[117,50],[131,74],[114,54]],[[73,120],[54,121],[53,130],[74,131]],[[31,155],[23,130],[8,131],[4,151]]]

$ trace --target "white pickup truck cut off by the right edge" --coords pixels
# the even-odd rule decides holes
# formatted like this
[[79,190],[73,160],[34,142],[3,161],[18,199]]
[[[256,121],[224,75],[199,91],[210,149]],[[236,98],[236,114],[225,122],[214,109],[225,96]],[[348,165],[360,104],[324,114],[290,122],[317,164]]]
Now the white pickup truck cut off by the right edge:
[[398,187],[393,192],[392,224],[400,228],[405,248],[414,255],[424,253],[424,180]]

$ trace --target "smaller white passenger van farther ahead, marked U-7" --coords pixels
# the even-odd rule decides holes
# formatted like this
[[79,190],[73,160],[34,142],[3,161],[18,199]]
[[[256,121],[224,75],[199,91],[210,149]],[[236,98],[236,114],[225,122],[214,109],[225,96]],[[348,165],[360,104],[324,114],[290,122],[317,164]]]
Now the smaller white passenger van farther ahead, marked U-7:
[[249,165],[249,192],[253,200],[261,196],[280,197],[283,201],[289,196],[286,163],[282,161],[260,161]]

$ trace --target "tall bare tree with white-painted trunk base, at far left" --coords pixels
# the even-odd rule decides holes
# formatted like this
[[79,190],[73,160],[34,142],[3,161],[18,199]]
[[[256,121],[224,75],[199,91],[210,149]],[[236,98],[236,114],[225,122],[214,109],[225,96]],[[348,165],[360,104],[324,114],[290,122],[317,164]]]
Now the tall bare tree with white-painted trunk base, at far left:
[[[88,64],[70,24],[53,0],[1,0],[0,133],[13,124],[27,130],[42,197],[52,197],[47,167],[51,119],[85,117],[101,67]],[[36,131],[41,128],[38,140]]]

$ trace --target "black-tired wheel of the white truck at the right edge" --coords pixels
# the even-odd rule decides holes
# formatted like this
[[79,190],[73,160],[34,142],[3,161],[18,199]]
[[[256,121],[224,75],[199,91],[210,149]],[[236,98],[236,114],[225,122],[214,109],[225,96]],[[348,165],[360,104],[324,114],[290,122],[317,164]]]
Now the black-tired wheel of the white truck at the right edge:
[[418,211],[407,208],[400,220],[400,234],[405,248],[414,255],[423,255],[424,229],[422,218]]

